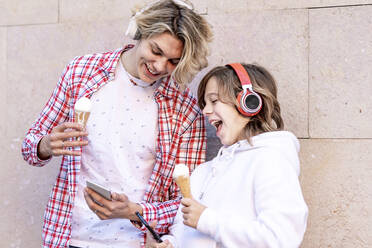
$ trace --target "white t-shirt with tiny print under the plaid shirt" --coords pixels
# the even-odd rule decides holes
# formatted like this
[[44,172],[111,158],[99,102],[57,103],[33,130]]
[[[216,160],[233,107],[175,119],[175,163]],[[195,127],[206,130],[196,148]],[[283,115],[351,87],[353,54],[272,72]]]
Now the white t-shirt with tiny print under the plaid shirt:
[[155,164],[158,108],[154,91],[160,82],[143,88],[129,78],[119,62],[115,79],[91,98],[93,107],[86,127],[89,144],[83,147],[70,245],[140,247],[140,231],[129,220],[100,220],[83,195],[86,180],[125,193],[133,202],[141,201],[145,193]]

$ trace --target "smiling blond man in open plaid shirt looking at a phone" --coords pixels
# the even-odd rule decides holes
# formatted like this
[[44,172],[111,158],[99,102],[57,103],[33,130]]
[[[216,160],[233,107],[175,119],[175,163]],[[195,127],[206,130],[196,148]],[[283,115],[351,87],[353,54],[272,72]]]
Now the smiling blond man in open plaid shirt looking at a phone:
[[[143,246],[135,212],[167,233],[180,203],[175,165],[191,173],[205,160],[204,118],[186,85],[207,66],[208,23],[184,1],[161,0],[134,13],[128,34],[134,44],[66,66],[23,142],[34,166],[63,156],[43,247]],[[82,97],[92,103],[86,128],[74,119]],[[86,181],[110,189],[112,200]]]

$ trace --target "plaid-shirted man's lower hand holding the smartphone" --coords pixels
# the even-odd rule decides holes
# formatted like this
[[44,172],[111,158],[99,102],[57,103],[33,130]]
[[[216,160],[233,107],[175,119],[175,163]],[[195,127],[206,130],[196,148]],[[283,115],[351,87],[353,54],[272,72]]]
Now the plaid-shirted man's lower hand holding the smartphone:
[[105,199],[94,190],[85,188],[84,198],[89,208],[101,219],[122,218],[139,221],[135,212],[143,213],[142,207],[131,202],[125,194],[111,193],[112,201]]

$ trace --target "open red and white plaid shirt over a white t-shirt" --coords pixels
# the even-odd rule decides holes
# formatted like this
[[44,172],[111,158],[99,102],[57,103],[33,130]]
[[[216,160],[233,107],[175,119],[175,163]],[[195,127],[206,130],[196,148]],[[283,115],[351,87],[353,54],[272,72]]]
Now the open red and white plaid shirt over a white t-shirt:
[[[113,80],[121,53],[132,47],[128,45],[114,52],[77,57],[66,66],[52,96],[23,141],[22,154],[29,164],[44,166],[49,162],[37,157],[41,138],[55,126],[74,121],[75,102],[82,96],[91,97]],[[148,222],[157,220],[156,231],[167,233],[180,203],[180,191],[172,180],[174,166],[186,164],[191,172],[204,162],[206,133],[196,99],[189,89],[181,92],[170,77],[165,78],[155,91],[155,101],[159,127],[156,162],[140,205]],[[75,149],[81,151],[81,147]],[[67,247],[69,244],[80,166],[80,156],[63,156],[44,214],[44,247]]]

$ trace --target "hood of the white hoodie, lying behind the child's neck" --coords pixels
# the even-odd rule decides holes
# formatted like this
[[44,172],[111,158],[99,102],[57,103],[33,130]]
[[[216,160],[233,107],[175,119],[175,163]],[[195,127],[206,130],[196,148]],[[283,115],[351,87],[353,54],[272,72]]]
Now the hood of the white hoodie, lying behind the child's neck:
[[216,159],[230,160],[235,154],[253,149],[269,148],[277,150],[294,167],[297,175],[300,173],[298,153],[300,143],[296,136],[288,131],[266,132],[251,138],[251,144],[247,140],[241,140],[231,146],[223,146],[218,152]]

